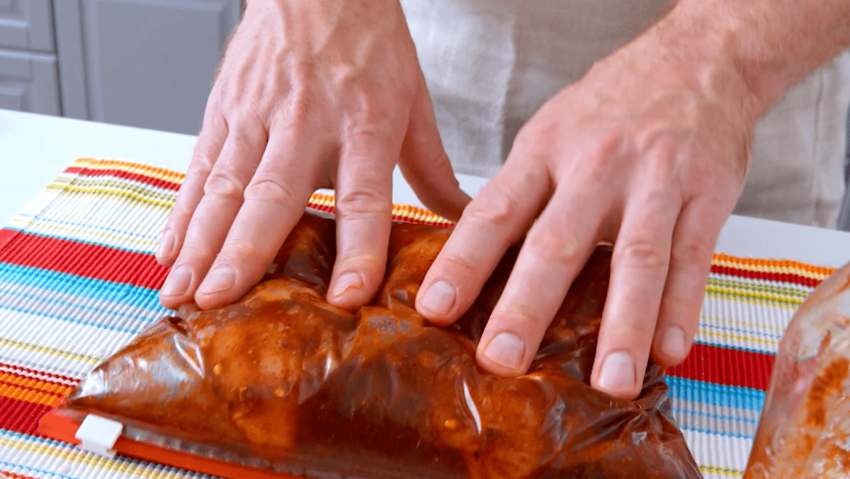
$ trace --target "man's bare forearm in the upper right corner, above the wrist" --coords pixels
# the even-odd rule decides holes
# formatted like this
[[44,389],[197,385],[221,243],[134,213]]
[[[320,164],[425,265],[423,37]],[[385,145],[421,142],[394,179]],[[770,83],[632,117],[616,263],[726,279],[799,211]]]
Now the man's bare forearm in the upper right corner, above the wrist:
[[847,0],[681,0],[647,36],[685,62],[740,75],[762,116],[809,71],[850,47]]

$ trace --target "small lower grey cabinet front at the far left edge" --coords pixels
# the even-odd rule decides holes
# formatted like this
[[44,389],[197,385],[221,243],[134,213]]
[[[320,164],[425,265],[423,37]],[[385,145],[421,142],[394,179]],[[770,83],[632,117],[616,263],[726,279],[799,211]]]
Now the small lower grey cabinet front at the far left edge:
[[59,115],[56,57],[0,50],[0,108]]

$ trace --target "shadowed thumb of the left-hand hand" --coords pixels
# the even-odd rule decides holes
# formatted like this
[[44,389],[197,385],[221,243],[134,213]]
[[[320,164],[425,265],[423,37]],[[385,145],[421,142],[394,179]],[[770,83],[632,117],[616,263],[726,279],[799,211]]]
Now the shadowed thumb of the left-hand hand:
[[453,221],[461,217],[470,198],[460,188],[445,155],[424,80],[411,111],[399,170],[429,210]]

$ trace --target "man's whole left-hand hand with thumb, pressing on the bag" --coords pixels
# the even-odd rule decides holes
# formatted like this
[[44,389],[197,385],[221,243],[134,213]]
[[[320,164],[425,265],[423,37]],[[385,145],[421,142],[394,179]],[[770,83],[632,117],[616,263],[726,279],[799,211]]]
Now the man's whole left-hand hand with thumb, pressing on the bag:
[[156,258],[165,307],[235,301],[317,188],[337,190],[328,301],[356,307],[386,264],[396,163],[458,217],[457,186],[398,0],[252,0],[224,57]]

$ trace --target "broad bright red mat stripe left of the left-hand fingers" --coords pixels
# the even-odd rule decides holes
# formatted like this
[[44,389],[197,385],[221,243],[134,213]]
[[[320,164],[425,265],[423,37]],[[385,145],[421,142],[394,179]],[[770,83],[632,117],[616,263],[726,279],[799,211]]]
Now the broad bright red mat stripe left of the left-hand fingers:
[[168,272],[153,255],[34,234],[8,240],[0,250],[0,262],[154,290],[160,289]]

